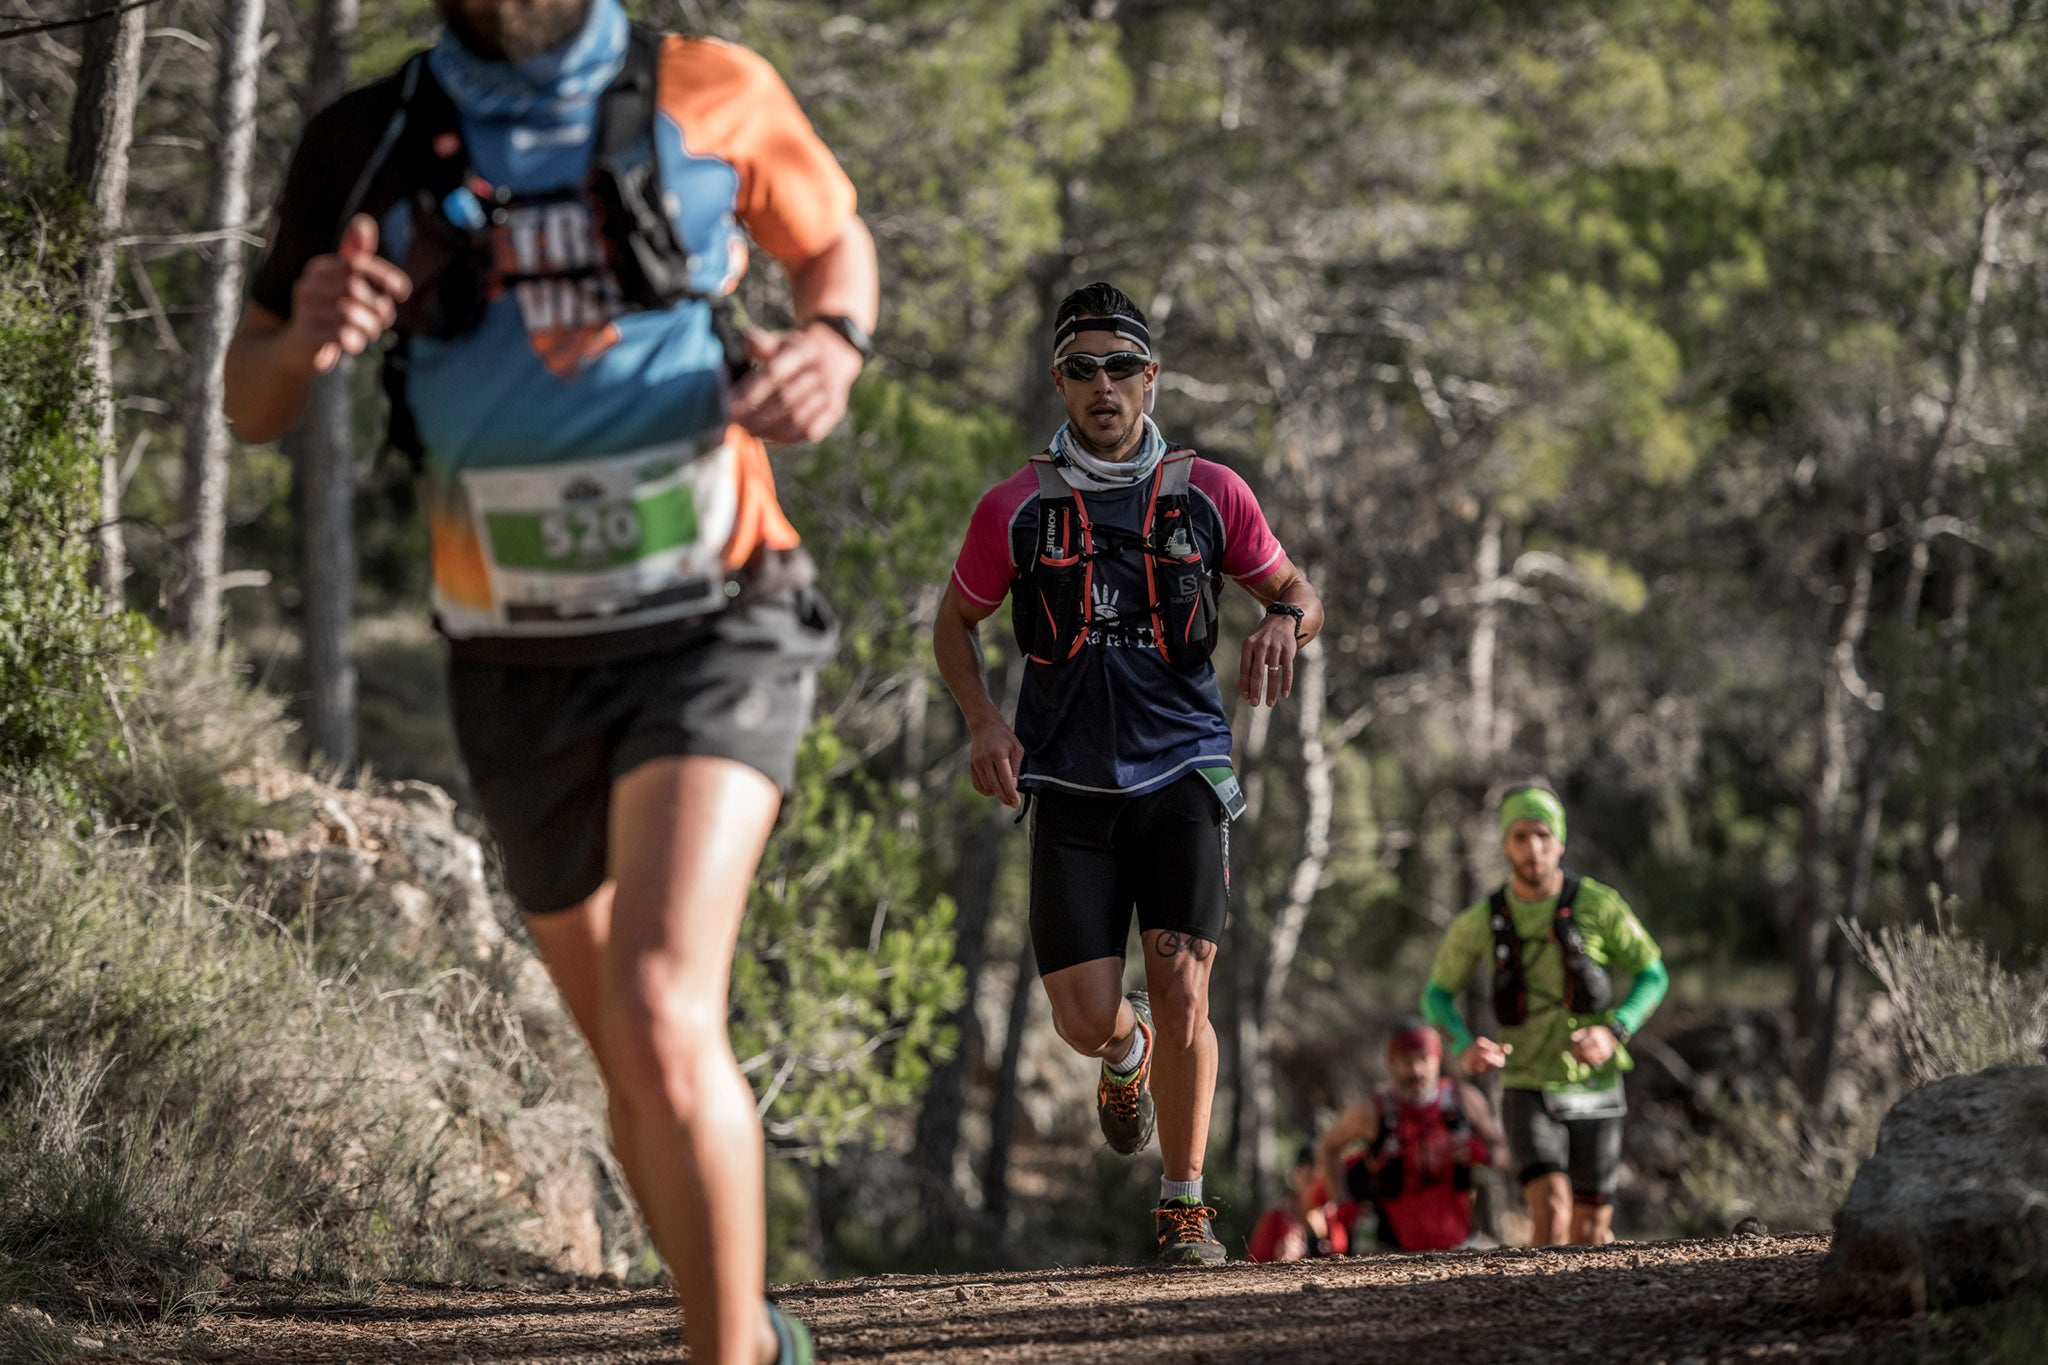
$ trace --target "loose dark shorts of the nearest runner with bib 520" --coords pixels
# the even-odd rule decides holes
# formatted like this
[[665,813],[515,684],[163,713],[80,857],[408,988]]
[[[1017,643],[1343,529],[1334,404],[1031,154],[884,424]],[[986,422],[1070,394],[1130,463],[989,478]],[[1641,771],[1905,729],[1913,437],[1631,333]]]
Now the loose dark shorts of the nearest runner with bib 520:
[[836,634],[799,587],[616,663],[451,663],[455,741],[520,907],[565,911],[604,882],[612,782],[647,759],[735,759],[788,792]]

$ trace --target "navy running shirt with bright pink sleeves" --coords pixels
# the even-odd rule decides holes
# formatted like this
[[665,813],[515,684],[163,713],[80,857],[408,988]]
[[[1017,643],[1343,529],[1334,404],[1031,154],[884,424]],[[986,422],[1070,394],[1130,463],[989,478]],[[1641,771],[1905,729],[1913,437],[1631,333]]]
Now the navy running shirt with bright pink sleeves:
[[[1085,491],[1098,526],[1130,536],[1145,524],[1151,483]],[[1235,471],[1194,460],[1190,512],[1202,561],[1239,583],[1280,567],[1284,553],[1257,497]],[[952,585],[993,610],[1032,561],[1038,475],[1026,465],[989,489],[967,526]],[[1167,663],[1151,639],[1145,565],[1137,553],[1096,561],[1094,626],[1063,663],[1026,663],[1016,735],[1018,784],[1087,796],[1141,796],[1194,767],[1227,767],[1231,722],[1208,661]]]

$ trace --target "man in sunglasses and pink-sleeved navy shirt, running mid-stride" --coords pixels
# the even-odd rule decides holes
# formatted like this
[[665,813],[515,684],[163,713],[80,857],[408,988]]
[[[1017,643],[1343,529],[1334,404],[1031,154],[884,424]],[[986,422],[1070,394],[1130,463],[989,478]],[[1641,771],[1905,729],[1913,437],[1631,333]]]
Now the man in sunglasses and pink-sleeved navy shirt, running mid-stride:
[[[1202,1203],[1208,974],[1243,810],[1210,663],[1217,608],[1225,579],[1266,608],[1237,649],[1235,690],[1274,706],[1323,604],[1245,481],[1153,426],[1157,372],[1145,315],[1120,291],[1090,284],[1061,303],[1053,383],[1067,424],[975,508],[932,649],[973,733],[975,790],[1032,798],[1032,950],[1059,1036],[1102,1058],[1102,1136],[1135,1154],[1157,1124],[1159,1261],[1210,1265],[1223,1244]],[[1004,598],[1024,653],[1016,729],[989,698],[977,639]],[[1147,988],[1124,995],[1133,915]]]

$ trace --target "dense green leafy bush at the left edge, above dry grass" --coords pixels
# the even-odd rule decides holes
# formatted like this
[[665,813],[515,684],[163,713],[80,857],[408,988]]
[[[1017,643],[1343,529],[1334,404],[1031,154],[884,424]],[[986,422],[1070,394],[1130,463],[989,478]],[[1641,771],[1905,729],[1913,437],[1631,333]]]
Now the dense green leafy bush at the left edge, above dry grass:
[[98,442],[78,323],[76,194],[0,143],[0,786],[63,780],[109,729],[141,622],[90,581]]

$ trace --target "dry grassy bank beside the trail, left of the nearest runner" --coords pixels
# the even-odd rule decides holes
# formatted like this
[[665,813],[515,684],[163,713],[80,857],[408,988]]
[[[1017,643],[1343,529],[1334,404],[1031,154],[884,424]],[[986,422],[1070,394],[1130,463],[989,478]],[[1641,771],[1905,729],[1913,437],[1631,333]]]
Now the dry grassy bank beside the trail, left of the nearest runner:
[[285,726],[231,665],[168,657],[123,712],[115,819],[0,829],[0,1357],[55,1359],[41,1310],[176,1316],[229,1277],[293,1297],[528,1269],[522,1193],[602,1146],[582,1058],[541,1056],[506,964],[266,902],[236,845],[291,812],[215,774]]

